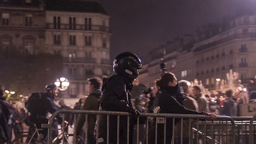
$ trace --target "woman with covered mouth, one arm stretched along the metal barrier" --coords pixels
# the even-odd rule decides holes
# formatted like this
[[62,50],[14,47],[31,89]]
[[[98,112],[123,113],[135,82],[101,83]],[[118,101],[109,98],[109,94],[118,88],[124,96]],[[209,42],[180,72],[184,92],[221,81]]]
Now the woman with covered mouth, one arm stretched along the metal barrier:
[[[160,107],[160,113],[209,115],[213,120],[216,118],[216,115],[213,113],[207,113],[205,111],[197,112],[180,105],[174,96],[174,94],[178,91],[178,84],[173,73],[166,72],[161,79],[156,80],[156,86],[159,86],[160,89],[159,93],[156,95],[156,102],[154,102],[154,106]],[[179,120],[175,120],[175,123],[178,121]],[[156,126],[149,130],[148,144],[155,143],[155,129]],[[166,144],[171,144],[173,135],[172,130],[173,118],[166,118]],[[164,124],[158,124],[157,126],[157,144],[164,144]]]

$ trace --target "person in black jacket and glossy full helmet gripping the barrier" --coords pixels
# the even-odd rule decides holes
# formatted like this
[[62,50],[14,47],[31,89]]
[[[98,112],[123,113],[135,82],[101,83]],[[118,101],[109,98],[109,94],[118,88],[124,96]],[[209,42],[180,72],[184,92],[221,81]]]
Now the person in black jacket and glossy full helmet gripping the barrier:
[[[113,69],[116,74],[103,78],[100,111],[123,111],[133,114],[129,118],[129,144],[133,143],[133,121],[140,112],[133,109],[130,91],[141,67],[140,58],[134,53],[124,52],[116,56]],[[107,116],[100,115],[95,123],[94,136],[100,144],[107,144]],[[127,144],[127,116],[119,119],[119,144]],[[97,127],[97,123],[99,124]],[[97,128],[98,136],[97,137]],[[117,116],[109,116],[109,144],[117,143]]]

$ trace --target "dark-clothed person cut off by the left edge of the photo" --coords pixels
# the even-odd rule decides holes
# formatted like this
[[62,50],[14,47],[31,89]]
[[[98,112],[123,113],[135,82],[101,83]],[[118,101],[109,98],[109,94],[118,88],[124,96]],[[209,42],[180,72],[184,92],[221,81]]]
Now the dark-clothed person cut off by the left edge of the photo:
[[5,101],[6,98],[3,96],[4,91],[4,86],[0,84],[0,144],[8,142],[11,138],[11,130],[8,125],[8,120],[14,111],[12,105]]

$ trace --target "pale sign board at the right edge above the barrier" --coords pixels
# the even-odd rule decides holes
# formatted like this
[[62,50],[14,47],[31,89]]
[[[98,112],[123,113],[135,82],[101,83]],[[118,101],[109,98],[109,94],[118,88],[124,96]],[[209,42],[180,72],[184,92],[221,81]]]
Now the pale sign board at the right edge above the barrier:
[[256,115],[256,102],[239,105],[240,116],[255,116]]

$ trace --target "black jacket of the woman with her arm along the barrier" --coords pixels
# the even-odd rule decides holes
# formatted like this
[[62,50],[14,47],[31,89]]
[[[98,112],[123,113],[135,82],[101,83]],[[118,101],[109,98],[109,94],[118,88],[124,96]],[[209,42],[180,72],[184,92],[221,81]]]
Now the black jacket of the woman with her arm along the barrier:
[[[178,85],[177,85],[178,86]],[[155,100],[157,102],[154,102],[154,106],[160,107],[160,113],[167,113],[167,114],[197,114],[197,115],[203,115],[204,112],[197,112],[190,109],[185,108],[183,105],[180,105],[180,103],[175,99],[174,94],[177,91],[171,92],[171,87],[166,88],[160,88],[159,93],[156,95]],[[173,87],[175,89],[175,87]],[[175,123],[178,121],[175,120]],[[172,139],[172,124],[173,124],[173,118],[166,118],[166,144],[171,144]],[[154,137],[155,127],[151,128],[149,130],[149,144],[154,144],[155,137]],[[164,124],[158,124],[157,126],[157,144],[163,144],[164,143]]]

